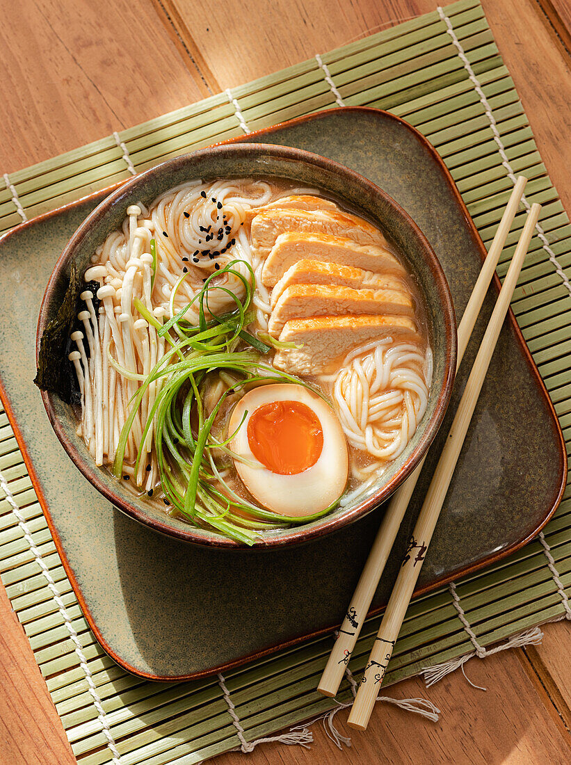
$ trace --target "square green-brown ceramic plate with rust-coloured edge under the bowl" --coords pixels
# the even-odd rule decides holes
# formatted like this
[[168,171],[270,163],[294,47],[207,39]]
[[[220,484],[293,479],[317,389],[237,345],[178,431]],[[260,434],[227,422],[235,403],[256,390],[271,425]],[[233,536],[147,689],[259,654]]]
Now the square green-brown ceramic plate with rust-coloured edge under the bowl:
[[[484,250],[444,164],[419,133],[386,112],[356,108],[321,112],[240,140],[314,151],[387,190],[426,234],[462,315]],[[235,552],[158,535],[122,516],[91,487],[57,441],[31,381],[47,278],[67,239],[104,195],[24,223],[0,240],[0,392],[67,575],[97,639],[131,672],[149,679],[190,679],[338,625],[383,507],[315,542]],[[475,329],[451,411],[497,289],[491,288]],[[374,611],[387,601],[450,418],[429,453]],[[559,423],[510,316],[423,565],[419,592],[527,542],[556,508],[565,478]]]

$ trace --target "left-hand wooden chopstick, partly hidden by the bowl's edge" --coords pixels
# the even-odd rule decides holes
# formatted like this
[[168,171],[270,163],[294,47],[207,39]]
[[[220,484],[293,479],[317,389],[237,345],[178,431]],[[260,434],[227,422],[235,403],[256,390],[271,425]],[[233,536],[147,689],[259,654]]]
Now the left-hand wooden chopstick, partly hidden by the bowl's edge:
[[[480,313],[481,305],[484,302],[491,278],[494,275],[501,251],[504,248],[507,234],[511,229],[521,197],[524,194],[526,183],[527,178],[523,175],[517,178],[514,190],[511,193],[507,207],[501,217],[500,225],[495,233],[494,241],[491,243],[488,256],[482,265],[464,314],[462,314],[462,321],[458,326],[458,360],[456,369],[460,366],[462,356],[464,356],[475,321]],[[333,650],[319,681],[318,691],[325,696],[334,696],[338,692],[349,657],[361,633],[361,627],[377,590],[377,585],[406,513],[406,508],[409,505],[411,496],[413,496],[414,487],[416,486],[420,471],[423,469],[423,464],[424,459],[403,485],[393,494],[383,520],[380,523],[373,547],[370,550],[361,578],[358,581],[357,588],[347,609],[347,616],[341,624],[338,639],[334,643]]]

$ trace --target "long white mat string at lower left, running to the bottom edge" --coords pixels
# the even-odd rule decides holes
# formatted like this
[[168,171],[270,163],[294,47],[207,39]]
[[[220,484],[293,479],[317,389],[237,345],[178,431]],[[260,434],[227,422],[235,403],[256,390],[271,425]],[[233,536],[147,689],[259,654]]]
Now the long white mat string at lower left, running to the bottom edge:
[[78,659],[80,659],[80,667],[81,669],[83,669],[83,672],[85,674],[85,679],[86,679],[87,685],[89,686],[90,696],[93,700],[93,706],[97,710],[97,719],[99,720],[101,725],[101,730],[103,731],[103,734],[106,737],[107,747],[109,748],[109,751],[112,754],[112,761],[113,763],[115,763],[115,765],[121,765],[121,755],[119,754],[119,751],[117,750],[115,739],[113,738],[113,733],[111,732],[111,726],[109,725],[109,720],[107,719],[106,712],[103,709],[101,698],[100,698],[99,692],[97,691],[97,686],[95,684],[95,681],[93,680],[93,675],[91,674],[91,669],[89,665],[87,664],[86,656],[83,653],[83,646],[81,645],[79,635],[77,634],[77,630],[75,629],[75,627],[73,627],[72,617],[70,617],[70,614],[67,611],[67,608],[65,607],[64,601],[62,601],[61,599],[61,593],[57,589],[54,578],[52,577],[50,573],[50,569],[47,568],[47,565],[44,562],[44,558],[42,558],[41,556],[41,552],[38,550],[38,548],[35,545],[34,539],[32,538],[32,535],[31,535],[32,532],[30,530],[30,527],[26,523],[25,518],[20,511],[20,508],[18,507],[18,504],[16,503],[15,497],[11,493],[11,489],[8,485],[8,481],[5,479],[4,475],[2,474],[2,471],[0,471],[0,487],[2,487],[2,491],[6,495],[6,500],[8,501],[8,504],[11,506],[12,512],[18,519],[18,526],[20,526],[22,532],[24,532],[24,539],[26,540],[26,542],[28,542],[28,545],[30,545],[30,550],[32,554],[34,555],[34,559],[38,563],[38,566],[40,567],[42,575],[44,575],[44,579],[47,582],[47,588],[51,591],[51,594],[54,597],[54,601],[57,604],[57,608],[60,611],[60,614],[64,620],[64,624],[67,628],[67,632],[70,635],[70,640],[73,643],[73,650],[75,651]]

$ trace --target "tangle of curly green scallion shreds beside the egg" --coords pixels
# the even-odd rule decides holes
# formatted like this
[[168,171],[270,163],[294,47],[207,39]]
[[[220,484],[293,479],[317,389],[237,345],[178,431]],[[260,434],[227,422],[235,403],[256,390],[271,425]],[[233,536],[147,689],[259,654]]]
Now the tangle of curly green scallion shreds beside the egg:
[[[151,252],[154,278],[154,239],[151,240]],[[248,277],[237,270],[238,263],[240,268],[246,266]],[[224,284],[220,284],[218,277],[224,274],[241,282],[245,293],[242,299]],[[184,277],[185,274],[178,280],[175,291]],[[252,545],[256,537],[265,531],[305,523],[331,510],[330,507],[321,513],[302,518],[272,513],[240,496],[224,476],[224,465],[230,459],[240,459],[228,446],[235,433],[219,438],[213,432],[225,402],[229,399],[231,401],[232,396],[243,395],[244,390],[252,385],[266,382],[290,382],[313,389],[294,375],[264,363],[263,355],[269,353],[272,347],[292,347],[292,343],[279,343],[265,334],[254,336],[246,330],[256,315],[252,306],[254,288],[255,278],[250,265],[243,261],[232,261],[224,269],[208,276],[201,291],[176,314],[174,297],[171,296],[172,317],[165,323],[158,320],[139,298],[135,298],[135,309],[149,325],[155,327],[158,336],[165,337],[170,345],[146,376],[124,369],[113,358],[109,347],[106,349],[109,362],[116,371],[140,383],[129,402],[129,413],[119,435],[113,474],[117,478],[122,476],[126,447],[136,413],[149,386],[156,382],[156,396],[142,428],[141,445],[134,466],[135,476],[145,456],[142,444],[145,444],[148,434],[152,432],[162,494],[172,506],[170,511],[197,526],[215,529],[245,545]],[[210,311],[209,292],[214,290],[228,295],[234,304],[232,311],[221,315]],[[198,308],[197,325],[185,318],[195,301]],[[208,405],[207,410],[203,394],[213,375],[220,379],[226,389],[214,406]],[[243,420],[237,430],[242,425]]]

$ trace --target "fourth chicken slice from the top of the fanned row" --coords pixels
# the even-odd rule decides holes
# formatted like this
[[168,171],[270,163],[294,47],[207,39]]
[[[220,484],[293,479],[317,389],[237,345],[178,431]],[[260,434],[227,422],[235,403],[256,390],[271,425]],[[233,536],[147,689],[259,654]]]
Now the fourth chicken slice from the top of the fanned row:
[[407,291],[406,284],[398,276],[375,274],[372,271],[356,269],[352,265],[299,260],[285,272],[272,289],[272,306],[288,287],[296,284],[339,285],[353,289],[393,289]]

